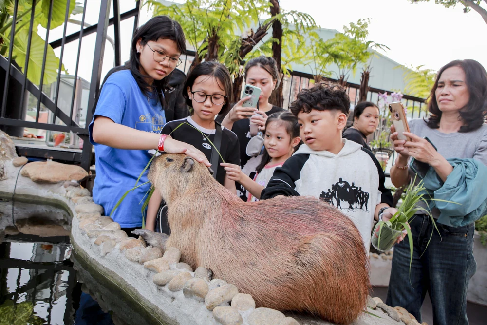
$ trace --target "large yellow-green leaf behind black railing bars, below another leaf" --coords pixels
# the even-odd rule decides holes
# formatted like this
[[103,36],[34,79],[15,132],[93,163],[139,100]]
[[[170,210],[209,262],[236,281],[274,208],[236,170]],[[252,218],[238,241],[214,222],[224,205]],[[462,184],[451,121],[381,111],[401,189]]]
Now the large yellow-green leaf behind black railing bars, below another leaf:
[[[15,61],[24,71],[25,57],[27,53],[27,41],[29,37],[29,32],[27,29],[21,29],[14,38],[14,48],[12,50],[12,56],[15,57]],[[29,66],[27,68],[27,78],[31,80],[34,84],[40,84],[40,74],[42,69],[42,59],[44,56],[44,40],[37,35],[32,33],[30,55],[29,55]],[[59,58],[54,54],[54,50],[50,45],[47,46],[46,53],[46,67],[44,71],[45,85],[56,81],[57,69],[59,68]]]

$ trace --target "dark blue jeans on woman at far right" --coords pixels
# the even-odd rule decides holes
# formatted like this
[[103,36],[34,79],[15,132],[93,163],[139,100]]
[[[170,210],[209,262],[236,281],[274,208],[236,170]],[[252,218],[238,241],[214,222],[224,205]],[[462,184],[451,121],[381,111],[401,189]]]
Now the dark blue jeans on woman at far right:
[[[468,325],[468,281],[477,270],[473,257],[475,225],[449,227],[436,223],[441,239],[426,215],[415,215],[410,226],[411,275],[411,253],[406,237],[394,246],[386,304],[404,307],[421,323],[421,305],[428,292],[434,325]],[[431,232],[433,236],[428,244]]]

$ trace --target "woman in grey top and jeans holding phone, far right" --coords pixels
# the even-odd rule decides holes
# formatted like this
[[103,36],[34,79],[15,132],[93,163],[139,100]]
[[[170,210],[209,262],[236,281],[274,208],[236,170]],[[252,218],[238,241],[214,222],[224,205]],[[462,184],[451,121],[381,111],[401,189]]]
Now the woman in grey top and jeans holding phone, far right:
[[[440,186],[434,192],[435,197],[441,190],[461,192],[469,187],[482,187],[475,183],[475,172],[480,175],[486,172],[487,166],[485,68],[475,60],[455,60],[442,67],[431,89],[428,110],[428,119],[409,122],[411,132],[403,134],[411,141],[398,140],[397,132],[391,127],[394,150],[398,153],[390,172],[394,186],[411,181],[414,175],[408,163],[414,158],[431,166],[428,180],[434,179]],[[425,184],[426,181],[425,178]],[[467,209],[478,205],[479,197],[480,201],[485,201],[484,196],[480,191],[478,195],[464,197],[462,205],[450,205],[457,207],[454,209]],[[473,209],[484,208],[481,205]],[[439,234],[428,215],[419,211],[412,218],[411,273],[409,241],[404,240],[394,247],[387,305],[404,307],[421,322],[421,305],[429,292],[434,324],[468,324],[468,281],[477,268],[473,257],[475,224],[472,213],[453,215],[432,209]]]

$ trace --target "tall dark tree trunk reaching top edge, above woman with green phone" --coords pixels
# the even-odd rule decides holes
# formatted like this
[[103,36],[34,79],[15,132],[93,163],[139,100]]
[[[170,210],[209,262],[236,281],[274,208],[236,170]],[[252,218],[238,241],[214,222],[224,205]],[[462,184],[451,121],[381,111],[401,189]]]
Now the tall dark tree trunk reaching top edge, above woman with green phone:
[[[279,15],[281,8],[279,6],[279,0],[269,0],[271,3],[270,11],[271,16],[274,17]],[[272,57],[276,60],[277,69],[281,72],[281,54],[282,54],[282,23],[279,19],[275,19],[272,23],[272,38],[277,39],[277,41],[272,42]],[[281,82],[272,92],[269,102],[278,107],[282,107],[284,104],[284,98],[282,97],[282,77]]]

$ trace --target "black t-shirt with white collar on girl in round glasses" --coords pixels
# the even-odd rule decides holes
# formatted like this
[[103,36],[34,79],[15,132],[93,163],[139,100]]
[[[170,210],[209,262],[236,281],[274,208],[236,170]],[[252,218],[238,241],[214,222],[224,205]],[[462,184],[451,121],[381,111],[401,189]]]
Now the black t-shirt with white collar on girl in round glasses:
[[[208,130],[202,128],[201,126],[196,124],[196,122],[193,121],[190,116],[187,118],[166,123],[161,131],[161,134],[171,134],[171,132],[176,129],[178,125],[184,122],[191,124],[196,129],[203,132],[210,139],[211,142],[214,141],[215,129]],[[171,137],[175,140],[193,145],[196,149],[201,150],[203,153],[205,153],[206,158],[210,160],[213,146],[198,130],[195,130],[193,127],[187,124],[183,124],[171,134]],[[237,138],[237,135],[235,135],[230,130],[225,129],[224,127],[222,127],[222,144],[220,147],[220,153],[222,154],[223,159],[225,159],[225,162],[240,165],[239,139]],[[212,169],[213,171],[217,172],[216,180],[218,181],[218,183],[224,185],[225,169],[220,166],[220,163],[222,162],[222,158],[219,158],[218,167],[216,168],[215,166],[212,166]]]

